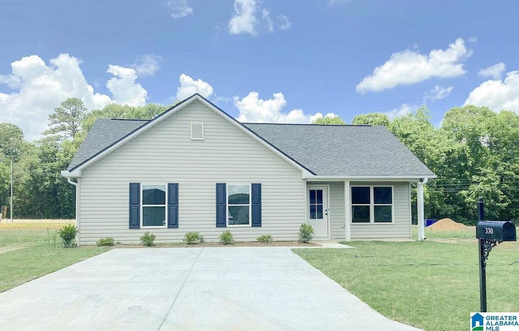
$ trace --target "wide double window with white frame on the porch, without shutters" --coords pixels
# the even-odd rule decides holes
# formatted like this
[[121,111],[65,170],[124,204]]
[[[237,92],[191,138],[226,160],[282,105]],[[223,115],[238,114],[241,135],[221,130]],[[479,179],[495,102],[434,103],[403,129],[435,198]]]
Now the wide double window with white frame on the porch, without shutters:
[[351,186],[352,223],[392,223],[392,186]]

